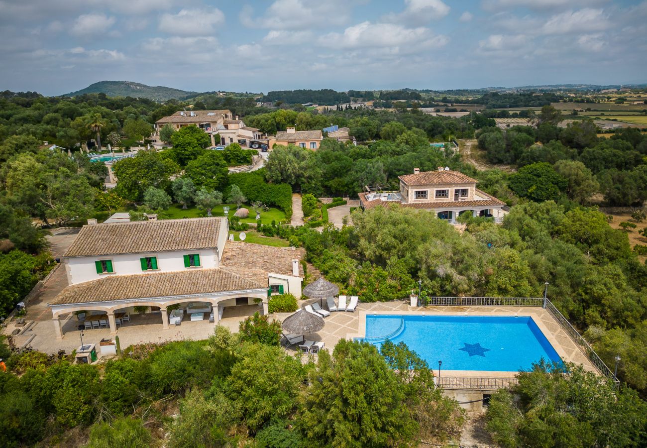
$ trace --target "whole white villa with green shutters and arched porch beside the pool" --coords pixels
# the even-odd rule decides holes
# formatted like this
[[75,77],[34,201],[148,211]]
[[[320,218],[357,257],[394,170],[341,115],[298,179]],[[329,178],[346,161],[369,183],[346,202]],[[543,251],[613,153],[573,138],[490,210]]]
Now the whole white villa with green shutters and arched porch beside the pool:
[[185,313],[217,323],[226,307],[267,314],[271,295],[301,297],[302,252],[228,241],[228,230],[217,217],[83,226],[62,258],[69,286],[49,303],[57,337],[74,311],[107,314],[116,335],[135,306],[159,310],[166,330]]

